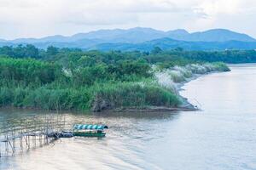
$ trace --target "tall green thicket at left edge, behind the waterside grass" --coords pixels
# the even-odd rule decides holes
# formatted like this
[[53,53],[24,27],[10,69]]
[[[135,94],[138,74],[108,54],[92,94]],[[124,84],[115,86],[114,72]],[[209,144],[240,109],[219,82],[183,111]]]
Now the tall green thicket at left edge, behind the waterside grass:
[[0,80],[5,83],[40,85],[62,76],[61,67],[35,59],[0,58]]

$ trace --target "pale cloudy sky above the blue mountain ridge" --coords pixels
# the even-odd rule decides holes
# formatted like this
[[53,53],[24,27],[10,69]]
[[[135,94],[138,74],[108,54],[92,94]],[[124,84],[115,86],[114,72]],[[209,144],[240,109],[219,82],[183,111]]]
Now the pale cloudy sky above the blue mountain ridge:
[[256,37],[255,0],[0,0],[0,38],[151,27],[225,28]]

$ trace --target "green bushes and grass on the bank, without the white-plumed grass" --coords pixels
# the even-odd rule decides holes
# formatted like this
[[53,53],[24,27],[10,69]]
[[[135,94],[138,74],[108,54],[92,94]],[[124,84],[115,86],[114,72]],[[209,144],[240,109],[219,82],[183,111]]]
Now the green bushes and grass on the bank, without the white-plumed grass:
[[172,92],[138,83],[152,77],[150,69],[143,60],[63,68],[35,59],[0,58],[0,105],[54,110],[94,107],[95,111],[102,107],[177,105]]

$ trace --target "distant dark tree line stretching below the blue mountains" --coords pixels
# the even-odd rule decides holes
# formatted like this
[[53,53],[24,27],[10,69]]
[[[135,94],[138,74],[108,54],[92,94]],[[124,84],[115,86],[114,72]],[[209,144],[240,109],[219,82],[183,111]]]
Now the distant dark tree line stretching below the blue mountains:
[[[185,51],[183,48],[174,48],[172,50],[163,51],[160,48],[154,48],[148,52],[100,52],[100,51],[82,51],[78,48],[55,48],[50,46],[46,50],[35,48],[33,45],[17,47],[4,46],[0,48],[0,55],[7,55],[13,58],[33,58],[51,61],[61,61],[65,63],[67,60],[78,62],[81,56],[90,56],[97,61],[104,63],[115,63],[122,59],[145,59],[150,64],[157,62],[172,62],[174,65],[181,62],[188,63],[186,60],[201,60],[208,62],[223,61],[225,63],[252,63],[256,62],[256,50],[224,50],[224,51]],[[185,61],[185,62],[184,62]]]

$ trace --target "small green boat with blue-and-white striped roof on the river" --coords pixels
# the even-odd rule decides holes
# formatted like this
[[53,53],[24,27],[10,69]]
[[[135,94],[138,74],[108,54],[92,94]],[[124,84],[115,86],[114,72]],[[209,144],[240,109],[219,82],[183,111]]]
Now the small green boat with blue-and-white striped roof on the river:
[[73,136],[80,137],[105,137],[106,125],[76,124],[73,126]]

